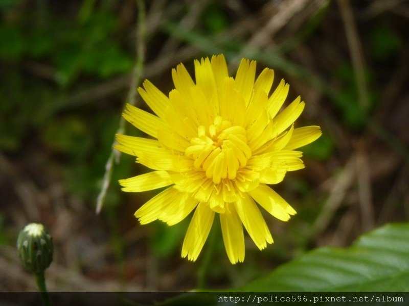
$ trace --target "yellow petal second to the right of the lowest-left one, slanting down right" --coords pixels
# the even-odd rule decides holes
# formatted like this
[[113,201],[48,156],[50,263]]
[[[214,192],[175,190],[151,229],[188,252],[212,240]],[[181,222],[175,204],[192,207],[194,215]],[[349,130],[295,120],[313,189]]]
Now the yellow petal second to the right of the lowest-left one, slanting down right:
[[248,235],[250,235],[259,249],[262,250],[267,246],[267,243],[273,242],[267,224],[251,196],[245,195],[235,202],[234,205]]

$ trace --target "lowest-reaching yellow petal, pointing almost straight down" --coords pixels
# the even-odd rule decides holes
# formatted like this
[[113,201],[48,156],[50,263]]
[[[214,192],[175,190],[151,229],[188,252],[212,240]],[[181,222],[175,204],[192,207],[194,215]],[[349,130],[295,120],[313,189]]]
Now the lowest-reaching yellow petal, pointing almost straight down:
[[223,235],[224,247],[232,264],[244,261],[244,235],[243,226],[237,215],[236,209],[230,203],[225,213],[220,214],[221,233]]

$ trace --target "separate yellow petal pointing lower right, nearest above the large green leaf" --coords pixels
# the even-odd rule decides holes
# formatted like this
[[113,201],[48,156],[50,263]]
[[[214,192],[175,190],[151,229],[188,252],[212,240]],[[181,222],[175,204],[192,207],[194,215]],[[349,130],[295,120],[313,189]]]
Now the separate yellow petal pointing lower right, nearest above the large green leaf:
[[248,192],[267,212],[277,219],[288,221],[296,211],[277,192],[264,184]]

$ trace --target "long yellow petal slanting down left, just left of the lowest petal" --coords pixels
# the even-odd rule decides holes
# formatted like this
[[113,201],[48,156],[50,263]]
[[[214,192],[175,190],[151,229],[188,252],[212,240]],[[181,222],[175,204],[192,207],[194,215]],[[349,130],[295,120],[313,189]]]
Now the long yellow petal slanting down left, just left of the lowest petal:
[[209,208],[207,203],[199,203],[190,221],[185,240],[183,241],[182,257],[188,257],[188,260],[191,261],[197,259],[209,236],[214,214],[214,211]]

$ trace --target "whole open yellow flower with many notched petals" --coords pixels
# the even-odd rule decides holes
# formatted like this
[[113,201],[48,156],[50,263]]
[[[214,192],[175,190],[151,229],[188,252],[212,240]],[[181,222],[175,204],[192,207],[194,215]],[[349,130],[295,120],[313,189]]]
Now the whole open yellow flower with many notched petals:
[[145,81],[139,93],[157,115],[127,105],[124,118],[154,139],[117,135],[116,149],[153,169],[120,180],[123,191],[167,187],[136,213],[141,224],[178,223],[193,210],[181,256],[195,261],[219,214],[232,264],[244,260],[243,225],[259,249],[272,243],[256,202],[287,221],[296,211],[266,184],[283,181],[287,171],[304,168],[295,151],[321,135],[319,126],[294,128],[304,109],[296,98],[279,113],[288,93],[281,80],[270,95],[274,71],[255,80],[256,62],[242,59],[229,77],[223,55],[195,60],[195,79],[183,64],[172,70],[169,96]]

